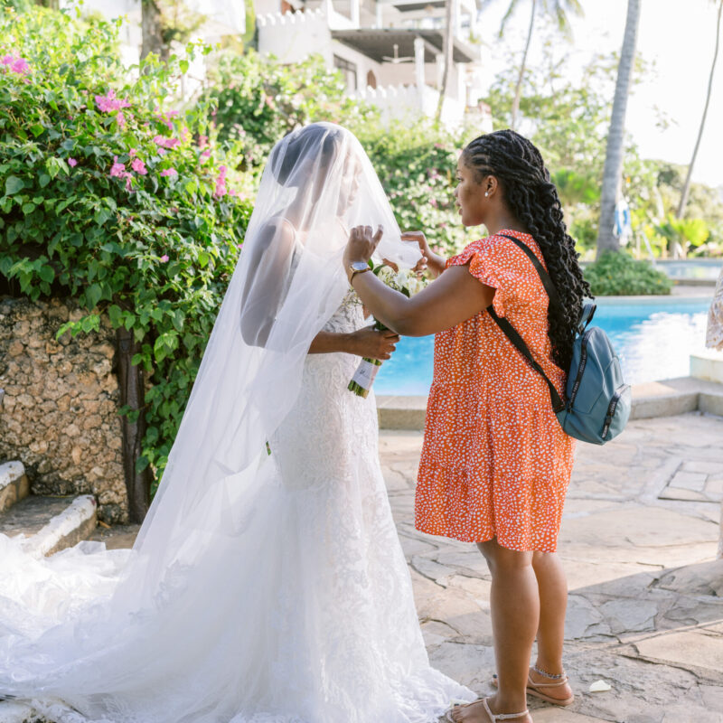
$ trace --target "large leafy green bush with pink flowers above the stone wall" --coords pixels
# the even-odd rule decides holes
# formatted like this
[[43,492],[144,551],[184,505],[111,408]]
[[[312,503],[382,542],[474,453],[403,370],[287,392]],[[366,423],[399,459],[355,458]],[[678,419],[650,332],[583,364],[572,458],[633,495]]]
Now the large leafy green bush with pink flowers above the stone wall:
[[116,45],[116,23],[74,13],[0,18],[0,283],[77,299],[61,332],[108,315],[134,333],[150,381],[138,466],[157,477],[251,208],[207,106],[165,106],[188,61],[126,70]]

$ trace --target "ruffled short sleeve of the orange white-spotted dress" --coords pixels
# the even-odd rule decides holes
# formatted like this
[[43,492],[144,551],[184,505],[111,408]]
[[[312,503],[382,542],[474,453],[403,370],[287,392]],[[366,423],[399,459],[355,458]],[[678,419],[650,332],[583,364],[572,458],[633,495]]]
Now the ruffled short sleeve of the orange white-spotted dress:
[[498,316],[506,316],[509,305],[533,302],[531,296],[531,273],[537,272],[530,259],[512,244],[499,236],[488,236],[469,244],[461,253],[447,261],[450,266],[469,263],[469,272],[485,286],[494,291],[493,308]]

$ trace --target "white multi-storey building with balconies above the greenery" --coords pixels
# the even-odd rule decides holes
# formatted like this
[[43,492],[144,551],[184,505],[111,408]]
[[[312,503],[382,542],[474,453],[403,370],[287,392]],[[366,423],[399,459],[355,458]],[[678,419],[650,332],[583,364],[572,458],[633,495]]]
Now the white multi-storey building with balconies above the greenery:
[[[442,119],[447,126],[472,114],[492,130],[482,95],[478,0],[458,0],[453,17],[453,68]],[[281,62],[321,54],[343,72],[350,94],[386,117],[434,116],[444,71],[447,0],[255,0],[258,51]]]

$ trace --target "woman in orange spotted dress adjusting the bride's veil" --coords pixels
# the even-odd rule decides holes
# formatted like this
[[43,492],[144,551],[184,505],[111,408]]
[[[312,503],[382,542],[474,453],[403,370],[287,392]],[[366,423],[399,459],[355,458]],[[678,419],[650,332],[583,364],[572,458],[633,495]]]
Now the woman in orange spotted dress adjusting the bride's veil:
[[[383,324],[409,336],[436,333],[416,525],[476,543],[492,573],[498,691],[452,709],[447,718],[531,723],[527,694],[558,705],[573,700],[562,667],[567,582],[556,554],[573,440],[559,426],[547,383],[489,308],[521,334],[564,398],[589,287],[557,190],[529,140],[511,130],[480,136],[465,147],[457,172],[462,222],[484,224],[490,235],[445,260],[430,251],[424,234],[406,234],[418,242],[432,274],[441,275],[434,284],[408,299],[362,273],[381,229],[352,230],[344,264],[362,302]],[[560,312],[549,308],[531,259],[510,236],[547,268]]]

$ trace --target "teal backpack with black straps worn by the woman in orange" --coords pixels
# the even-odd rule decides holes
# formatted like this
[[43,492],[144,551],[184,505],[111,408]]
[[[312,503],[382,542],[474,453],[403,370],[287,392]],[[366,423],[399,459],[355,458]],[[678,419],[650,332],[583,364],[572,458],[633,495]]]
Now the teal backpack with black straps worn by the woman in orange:
[[[506,234],[501,235],[514,241],[530,257],[548,293],[549,303],[559,306],[558,292],[548,272],[540,264],[540,259],[521,240]],[[512,324],[499,317],[492,306],[487,309],[494,322],[530,363],[532,369],[547,381],[552,408],[565,432],[583,442],[604,445],[617,437],[627,424],[631,394],[630,385],[623,380],[620,360],[607,334],[598,326],[588,328],[595,310],[594,304],[584,305],[577,323],[572,363],[568,371],[568,386],[565,390],[567,399],[563,401],[555,385],[535,361],[527,344]]]

